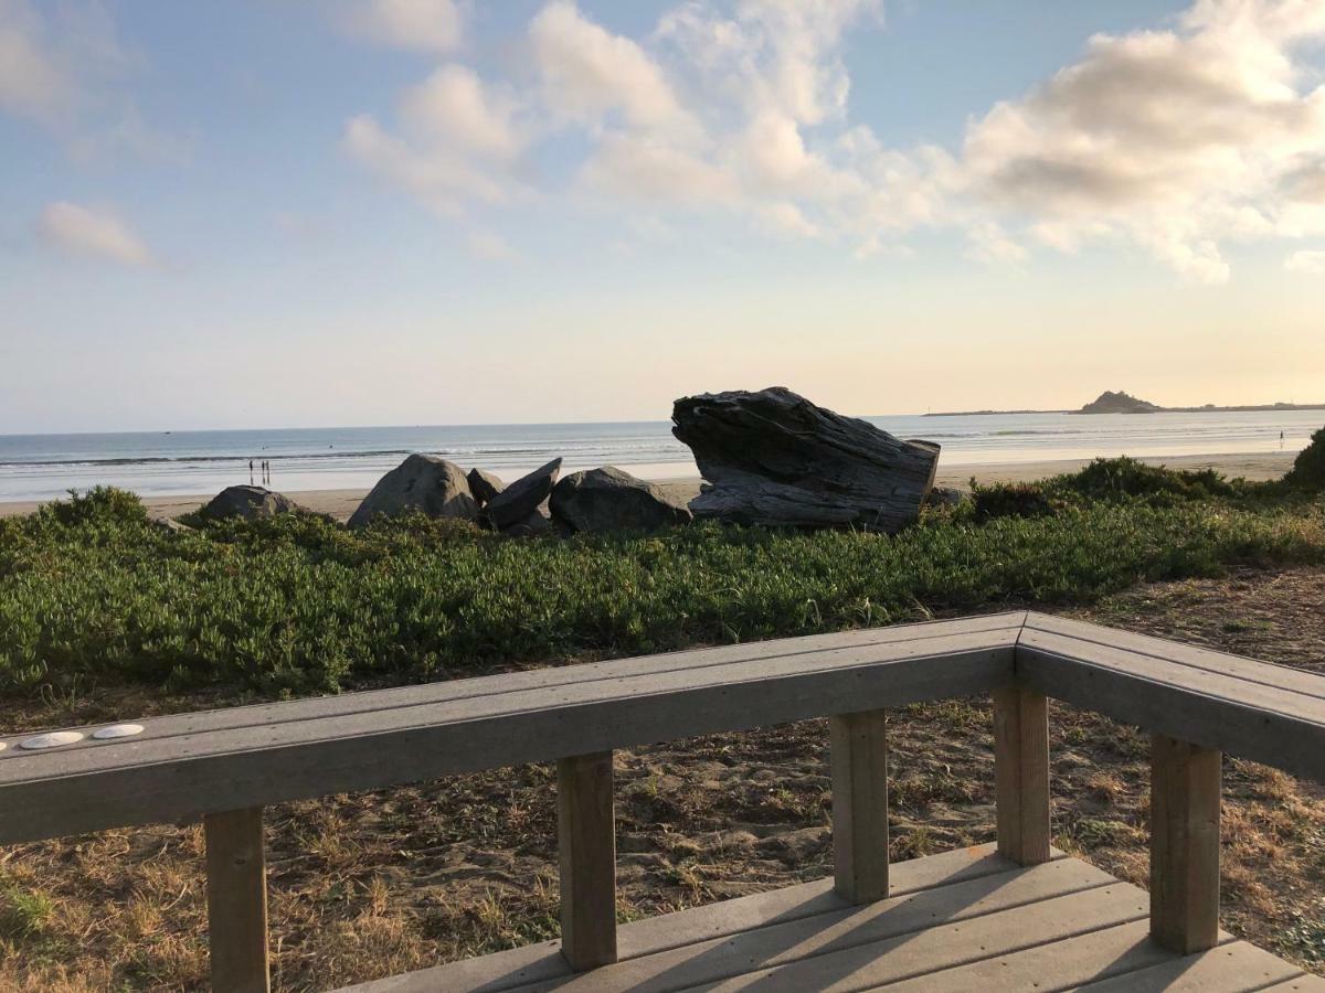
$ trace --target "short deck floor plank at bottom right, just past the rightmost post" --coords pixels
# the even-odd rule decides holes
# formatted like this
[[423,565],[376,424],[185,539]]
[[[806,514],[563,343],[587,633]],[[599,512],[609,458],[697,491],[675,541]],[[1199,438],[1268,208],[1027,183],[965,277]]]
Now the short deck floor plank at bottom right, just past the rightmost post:
[[[1226,941],[1208,952],[1170,959],[1098,982],[1077,986],[1089,993],[1249,993],[1296,980],[1302,970],[1246,941]],[[1325,982],[1321,982],[1325,988]],[[1302,986],[1306,989],[1306,986]]]

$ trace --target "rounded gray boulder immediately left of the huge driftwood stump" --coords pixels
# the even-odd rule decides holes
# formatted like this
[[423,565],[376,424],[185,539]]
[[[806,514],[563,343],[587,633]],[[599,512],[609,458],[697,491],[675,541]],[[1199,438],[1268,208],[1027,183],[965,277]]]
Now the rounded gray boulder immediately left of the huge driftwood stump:
[[659,531],[690,522],[688,508],[615,466],[571,473],[553,487],[550,504],[571,531]]

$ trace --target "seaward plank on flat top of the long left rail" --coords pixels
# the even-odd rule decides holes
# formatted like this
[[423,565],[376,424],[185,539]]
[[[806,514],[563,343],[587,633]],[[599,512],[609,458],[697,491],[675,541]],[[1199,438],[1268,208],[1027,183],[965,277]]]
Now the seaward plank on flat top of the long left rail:
[[[812,662],[815,655],[844,649],[868,649],[877,645],[901,645],[904,642],[942,638],[953,634],[979,634],[983,632],[1018,632],[1026,612],[998,614],[977,614],[946,621],[924,621],[918,624],[898,624],[886,628],[865,628],[829,634],[812,634],[795,638],[771,638],[768,641],[742,642],[717,647],[688,649],[636,658],[617,658],[604,662],[584,662],[570,666],[545,666],[498,675],[450,679],[421,686],[399,686],[386,690],[360,690],[356,692],[313,696],[299,700],[280,700],[274,703],[254,703],[244,707],[195,711],[189,714],[170,714],[142,719],[142,735],[134,739],[94,740],[86,739],[76,748],[123,749],[158,737],[178,737],[197,735],[207,731],[227,731],[236,728],[266,730],[272,724],[285,724],[295,720],[318,718],[343,718],[354,714],[382,712],[400,707],[415,707],[431,703],[448,703],[494,694],[521,690],[546,690],[580,686],[604,679],[635,679],[644,675],[689,671],[702,675],[704,670],[737,662],[768,661],[776,658],[800,658]],[[87,731],[86,727],[64,728]],[[28,732],[30,733],[30,732]],[[0,740],[4,735],[0,735]],[[68,752],[65,752],[68,753]],[[40,760],[54,752],[30,755]]]

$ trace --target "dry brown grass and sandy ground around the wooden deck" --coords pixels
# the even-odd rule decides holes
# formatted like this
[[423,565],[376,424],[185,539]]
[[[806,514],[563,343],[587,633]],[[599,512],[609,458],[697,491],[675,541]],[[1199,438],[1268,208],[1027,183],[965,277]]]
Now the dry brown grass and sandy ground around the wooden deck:
[[[1325,572],[1147,587],[1080,616],[1325,673]],[[220,698],[158,700],[156,710]],[[28,700],[13,726],[140,700]],[[1052,715],[1056,843],[1146,884],[1149,739]],[[892,855],[994,837],[983,702],[910,707],[890,731]],[[831,873],[827,730],[804,722],[617,756],[623,919]],[[268,812],[274,981],[326,989],[556,935],[551,771],[523,767]],[[1224,765],[1224,924],[1325,973],[1325,790]],[[0,989],[196,989],[207,970],[196,826],[0,850]]]

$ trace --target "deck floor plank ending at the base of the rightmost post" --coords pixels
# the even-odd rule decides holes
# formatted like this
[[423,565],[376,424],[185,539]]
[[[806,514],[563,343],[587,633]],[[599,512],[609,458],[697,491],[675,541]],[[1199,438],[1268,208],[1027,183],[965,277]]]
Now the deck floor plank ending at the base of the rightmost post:
[[1000,952],[955,968],[869,989],[886,989],[888,993],[1057,990],[1094,978],[1132,973],[1171,959],[1173,952],[1166,952],[1149,940],[1145,923],[1134,922],[1053,937],[1024,951]]

